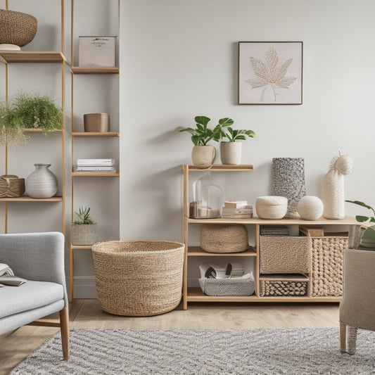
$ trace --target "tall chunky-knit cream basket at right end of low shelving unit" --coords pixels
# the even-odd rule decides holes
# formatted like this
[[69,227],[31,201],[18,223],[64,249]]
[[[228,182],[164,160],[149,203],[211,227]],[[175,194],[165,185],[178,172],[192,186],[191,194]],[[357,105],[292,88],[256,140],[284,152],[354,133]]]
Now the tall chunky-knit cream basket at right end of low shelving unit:
[[343,295],[343,249],[348,237],[312,237],[311,295]]

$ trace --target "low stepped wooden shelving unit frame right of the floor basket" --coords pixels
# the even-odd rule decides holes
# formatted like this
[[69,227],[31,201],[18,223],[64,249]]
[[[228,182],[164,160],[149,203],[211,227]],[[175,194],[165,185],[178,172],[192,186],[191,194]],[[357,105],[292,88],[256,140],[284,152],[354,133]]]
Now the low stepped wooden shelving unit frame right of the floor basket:
[[[195,165],[183,165],[184,173],[184,203],[183,203],[183,241],[185,243],[184,276],[183,276],[183,305],[187,309],[189,302],[283,302],[283,303],[311,303],[311,302],[339,302],[341,296],[267,296],[261,297],[259,293],[260,279],[260,227],[262,225],[303,225],[314,227],[354,225],[356,221],[353,217],[345,217],[342,220],[328,220],[321,218],[319,220],[301,220],[295,217],[286,217],[281,220],[262,220],[258,217],[251,219],[191,219],[189,218],[189,174],[190,172],[250,172],[253,165],[212,165],[208,169],[200,169]],[[245,224],[255,227],[255,247],[250,247],[242,253],[208,253],[199,246],[189,246],[189,226],[193,224]],[[188,288],[188,264],[192,257],[210,257],[215,262],[219,262],[223,257],[255,258],[255,294],[247,296],[210,296],[204,295],[201,288]],[[212,261],[213,262],[213,261]]]

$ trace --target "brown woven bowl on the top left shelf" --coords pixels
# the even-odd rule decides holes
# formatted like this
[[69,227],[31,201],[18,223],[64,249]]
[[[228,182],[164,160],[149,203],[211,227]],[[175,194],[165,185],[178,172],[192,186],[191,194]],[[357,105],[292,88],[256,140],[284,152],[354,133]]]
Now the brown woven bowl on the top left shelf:
[[0,44],[25,46],[37,34],[37,18],[27,13],[0,9]]

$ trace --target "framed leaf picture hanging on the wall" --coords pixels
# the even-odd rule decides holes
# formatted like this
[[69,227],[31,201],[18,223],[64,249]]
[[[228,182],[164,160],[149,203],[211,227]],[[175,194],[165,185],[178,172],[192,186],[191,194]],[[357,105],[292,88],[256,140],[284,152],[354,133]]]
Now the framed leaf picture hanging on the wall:
[[239,104],[302,104],[303,42],[239,42]]

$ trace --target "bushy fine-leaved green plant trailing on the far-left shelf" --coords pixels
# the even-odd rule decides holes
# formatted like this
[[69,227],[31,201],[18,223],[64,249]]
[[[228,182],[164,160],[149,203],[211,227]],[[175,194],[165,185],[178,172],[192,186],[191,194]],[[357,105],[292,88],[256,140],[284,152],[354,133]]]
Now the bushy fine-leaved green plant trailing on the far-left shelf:
[[30,129],[42,129],[43,134],[63,129],[63,110],[51,96],[18,94],[0,103],[1,143],[24,143],[24,132]]

